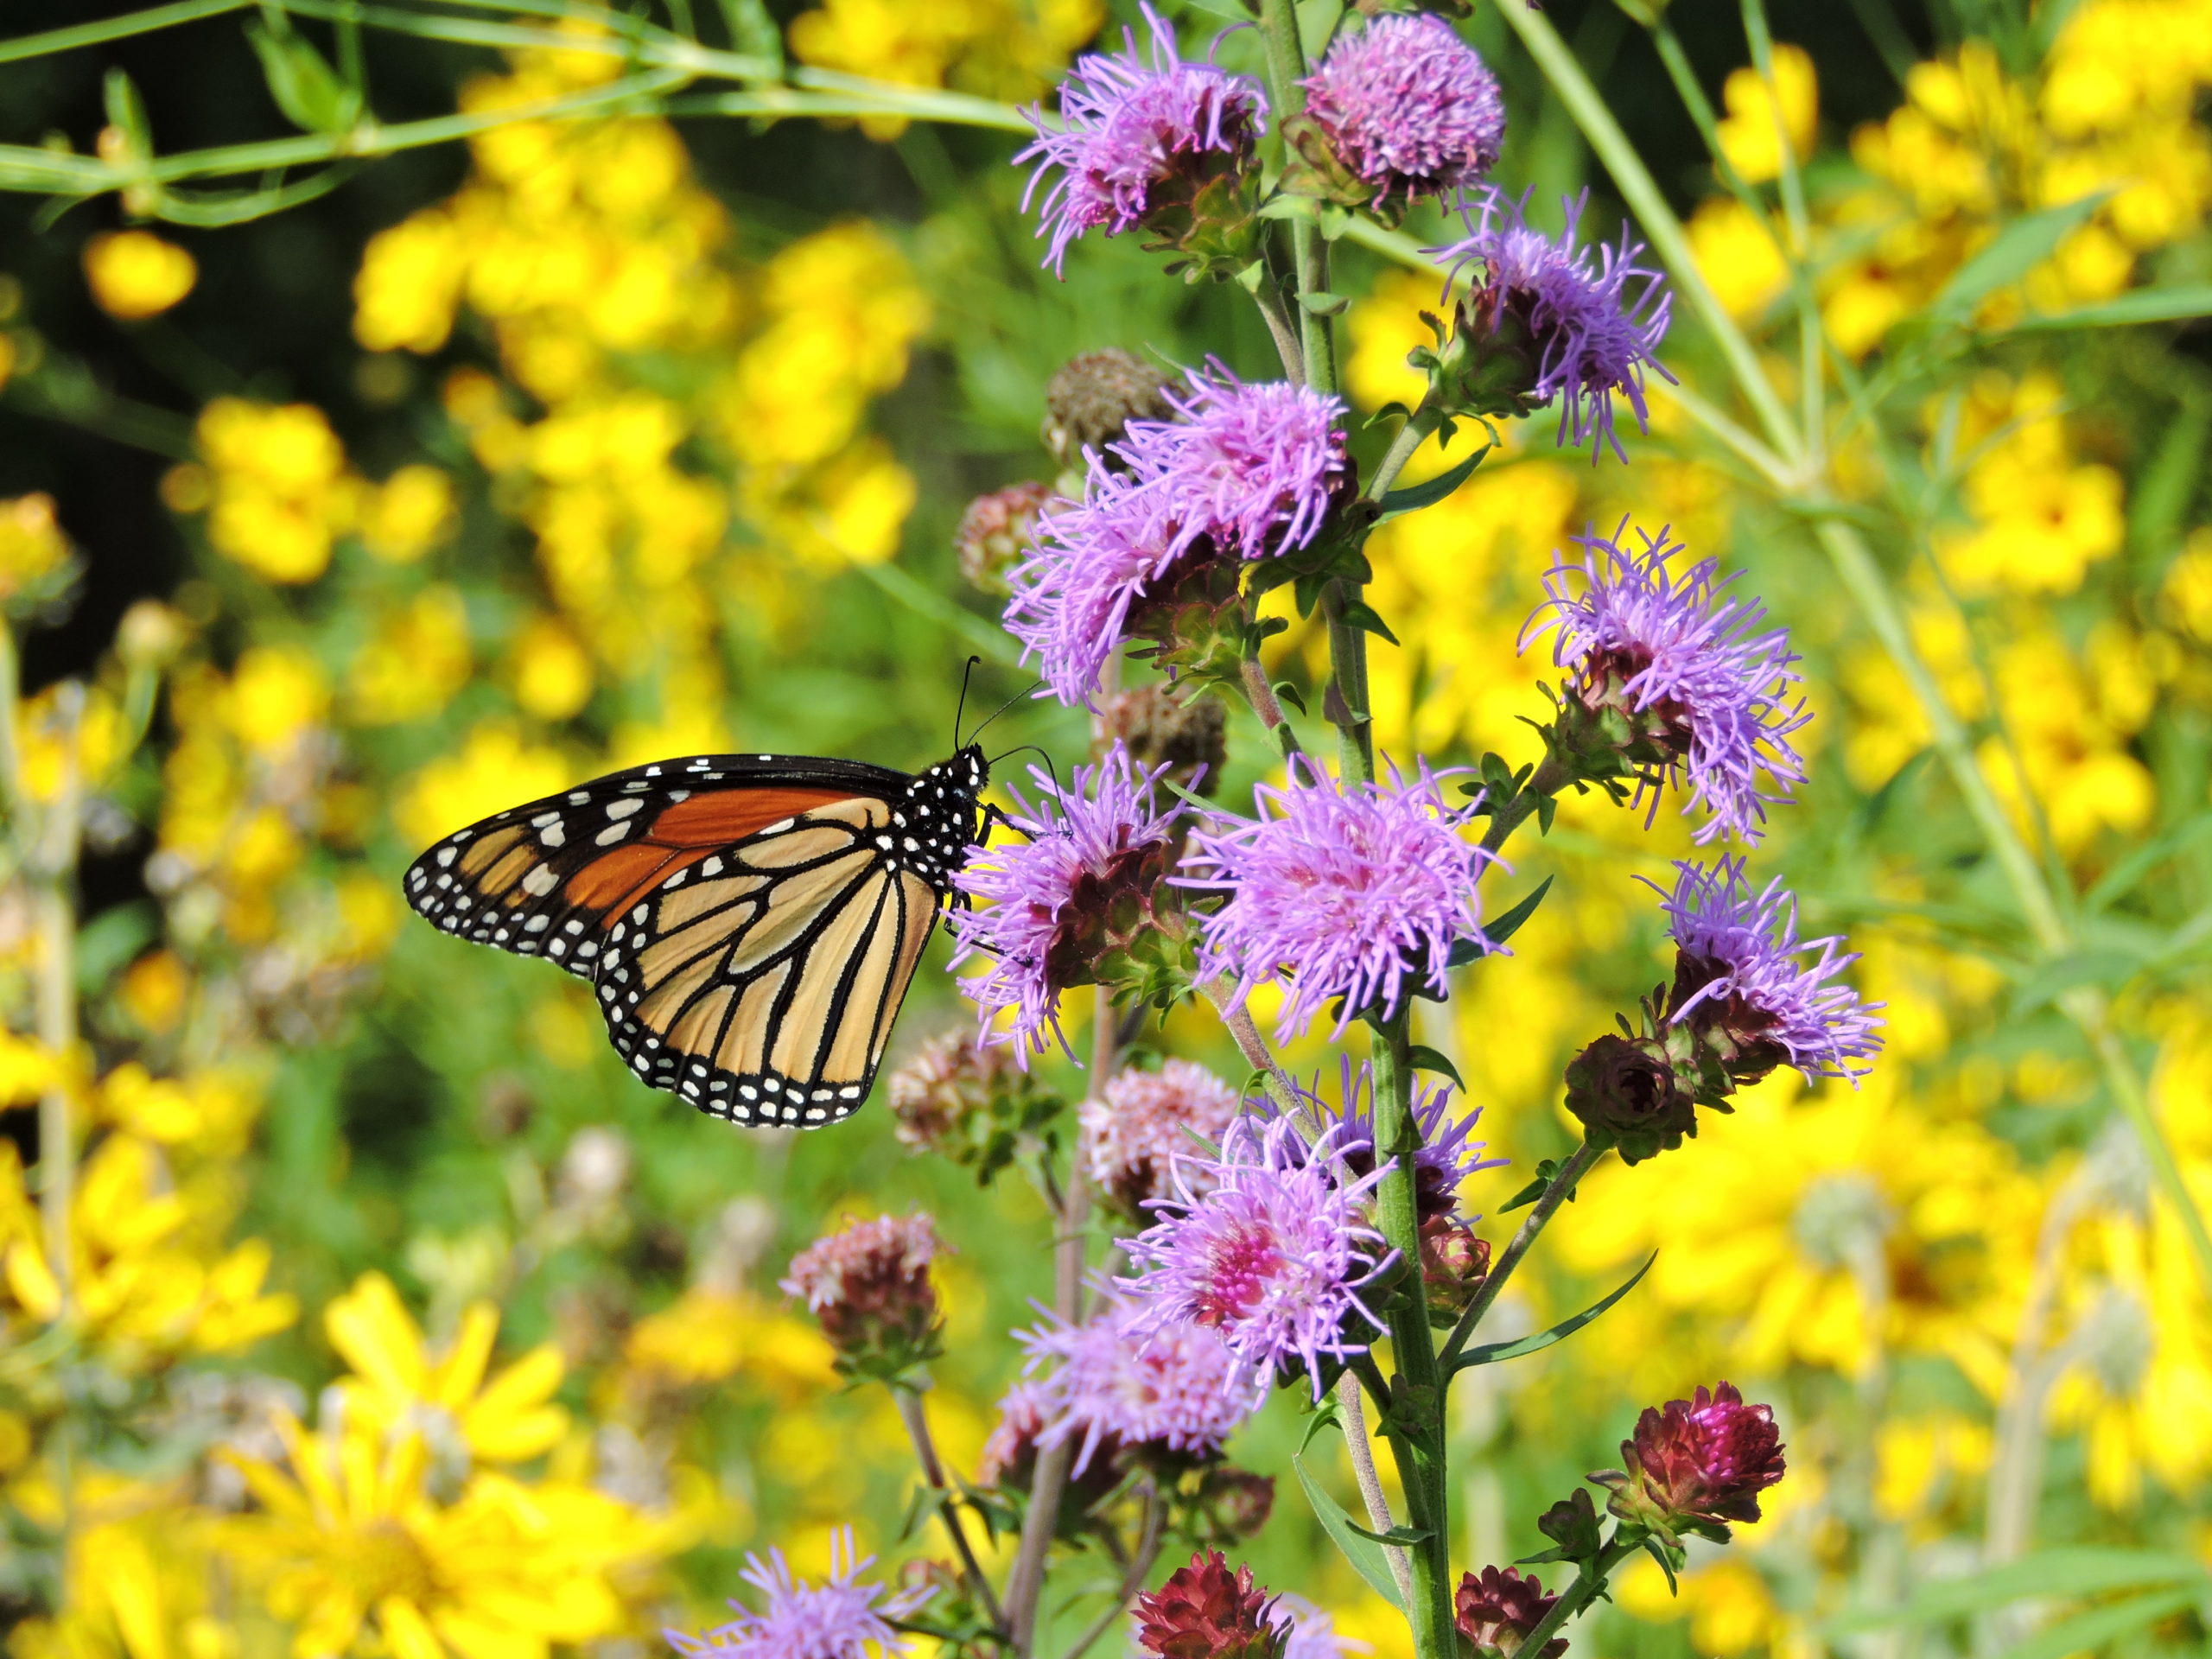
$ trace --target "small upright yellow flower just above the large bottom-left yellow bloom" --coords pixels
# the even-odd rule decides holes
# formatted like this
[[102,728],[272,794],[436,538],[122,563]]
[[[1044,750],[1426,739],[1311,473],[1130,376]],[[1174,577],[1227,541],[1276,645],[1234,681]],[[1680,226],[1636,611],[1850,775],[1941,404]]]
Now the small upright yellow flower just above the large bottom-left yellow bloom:
[[500,1312],[471,1303],[447,1354],[431,1360],[422,1329],[392,1281],[363,1274],[323,1312],[323,1329],[354,1374],[338,1383],[347,1422],[378,1433],[409,1429],[445,1449],[456,1442],[484,1462],[522,1462],[553,1449],[568,1413],[551,1405],[560,1389],[560,1352],[544,1343],[484,1380]]

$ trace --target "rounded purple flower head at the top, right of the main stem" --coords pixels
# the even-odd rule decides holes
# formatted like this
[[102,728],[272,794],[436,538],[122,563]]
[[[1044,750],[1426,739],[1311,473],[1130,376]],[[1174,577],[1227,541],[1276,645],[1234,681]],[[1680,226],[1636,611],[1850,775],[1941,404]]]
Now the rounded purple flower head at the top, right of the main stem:
[[1340,33],[1305,80],[1305,113],[1378,201],[1471,184],[1498,166],[1506,137],[1498,77],[1429,13]]

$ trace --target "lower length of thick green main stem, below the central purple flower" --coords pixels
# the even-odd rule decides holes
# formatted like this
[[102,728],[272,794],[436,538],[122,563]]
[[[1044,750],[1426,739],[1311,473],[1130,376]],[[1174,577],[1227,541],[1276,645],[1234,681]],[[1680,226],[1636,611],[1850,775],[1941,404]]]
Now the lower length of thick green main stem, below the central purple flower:
[[1413,1066],[1407,1057],[1407,1009],[1385,1020],[1374,1035],[1374,1124],[1376,1164],[1389,1170],[1376,1188],[1376,1228],[1398,1252],[1402,1276],[1389,1298],[1389,1336],[1396,1376],[1385,1400],[1385,1431],[1405,1489],[1407,1524],[1427,1533],[1407,1548],[1413,1593],[1407,1619],[1418,1659],[1451,1659],[1458,1635],[1451,1619],[1451,1504],[1444,1464],[1444,1374],[1429,1329],[1429,1296],[1420,1279],[1420,1206],[1413,1192],[1413,1155],[1420,1124],[1413,1119]]

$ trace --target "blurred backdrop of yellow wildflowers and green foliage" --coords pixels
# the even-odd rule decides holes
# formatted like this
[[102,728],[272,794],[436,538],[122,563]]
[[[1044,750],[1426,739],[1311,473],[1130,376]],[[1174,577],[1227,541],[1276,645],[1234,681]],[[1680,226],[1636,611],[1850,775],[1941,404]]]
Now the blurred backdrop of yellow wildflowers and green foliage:
[[[1026,102],[1104,22],[1091,0],[825,0],[785,44]],[[1504,27],[1473,27],[1531,100],[1515,131],[1557,126]],[[2081,0],[2042,33],[1966,33],[1900,64],[1893,108],[1851,131],[1814,55],[1770,62],[1719,84],[1728,166],[1699,175],[1686,228],[1790,400],[1807,310],[1825,330],[1818,511],[1712,438],[1701,411],[1747,414],[1679,303],[1683,392],[1652,387],[1632,465],[1557,453],[1537,416],[1369,549],[1400,639],[1376,648],[1371,712],[1398,757],[1533,757],[1546,664],[1522,622],[1573,538],[1624,518],[1743,568],[1807,655],[1816,779],[1761,867],[1805,894],[1809,933],[1865,951],[1885,1064],[1856,1091],[1772,1079],[1659,1164],[1593,1175],[1502,1316],[1533,1329],[1657,1252],[1650,1272],[1458,1396],[1478,1564],[1535,1551],[1531,1517],[1637,1407],[1721,1376],[1776,1402],[1792,1475],[1770,1520],[1692,1557],[1679,1599],[1655,1566],[1630,1575],[1584,1637],[1639,1659],[1858,1652],[1893,1635],[1851,1615],[2037,1546],[2212,1555],[2205,1281],[2064,1013],[2101,998],[2212,1206],[2212,405],[2170,330],[2055,325],[2203,270],[2212,4]],[[460,108],[489,124],[458,184],[347,259],[325,341],[345,389],[195,396],[159,473],[186,573],[82,677],[31,657],[88,580],[69,515],[0,500],[0,1606],[33,1659],[641,1652],[712,1619],[745,1551],[818,1573],[856,1524],[894,1564],[927,1553],[902,1526],[898,1413],[841,1391],[774,1287],[843,1214],[947,1219],[929,1413],[951,1467],[973,1473],[1015,1369],[1004,1332],[1044,1283],[1026,1194],[907,1159],[880,1110],[796,1141],[697,1121],[628,1079],[582,987],[431,938],[396,872],[641,759],[942,754],[969,650],[995,650],[998,697],[1022,688],[989,602],[956,591],[960,504],[1046,471],[1029,434],[1060,361],[1194,361],[1237,294],[1126,246],[1042,279],[998,137],[858,115],[807,153],[836,188],[799,210],[706,126],[493,119],[619,73],[544,46],[471,71]],[[787,135],[745,166],[787,164]],[[2026,221],[2048,239],[1960,299]],[[106,230],[73,281],[119,338],[159,343],[226,270],[219,246]],[[1347,396],[1411,400],[1440,276],[1338,257],[1363,294]],[[20,305],[0,294],[0,383],[40,385],[58,325]],[[1920,533],[1878,549],[1900,624],[1993,812],[2066,896],[2057,960],[2024,945],[1927,701],[1816,549],[1823,515]],[[1283,672],[1312,650],[1285,635]],[[15,690],[18,657],[40,690]],[[1046,710],[1006,728],[1062,759],[1084,741]],[[1263,763],[1239,739],[1232,779]],[[1568,1146],[1562,1062],[1663,973],[1635,876],[1688,852],[1672,805],[1646,830],[1597,799],[1517,843],[1502,891],[1555,876],[1551,898],[1511,960],[1422,1011],[1513,1159],[1478,1206]],[[139,887],[95,911],[117,858]],[[925,987],[905,1040],[960,1018]],[[1234,1064],[1201,1020],[1168,1042]],[[38,1157],[58,1141],[71,1157]],[[1283,1473],[1301,1433],[1279,1405],[1243,1460]],[[1252,1555],[1400,1650],[1292,1482]],[[2201,1613],[2161,1619],[2143,1652],[2205,1639]]]

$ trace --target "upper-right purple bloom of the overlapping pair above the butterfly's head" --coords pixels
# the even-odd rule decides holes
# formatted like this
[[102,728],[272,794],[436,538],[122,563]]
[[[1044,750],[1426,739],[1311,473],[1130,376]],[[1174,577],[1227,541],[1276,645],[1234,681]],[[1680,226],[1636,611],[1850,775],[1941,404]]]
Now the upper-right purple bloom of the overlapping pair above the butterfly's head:
[[1259,560],[1312,542],[1352,487],[1343,398],[1245,385],[1221,363],[1192,369],[1188,387],[1166,394],[1177,420],[1130,420],[1113,447],[1157,491],[1175,549],[1210,538]]

